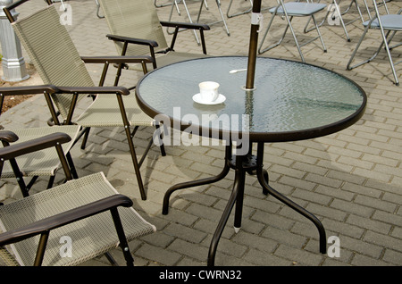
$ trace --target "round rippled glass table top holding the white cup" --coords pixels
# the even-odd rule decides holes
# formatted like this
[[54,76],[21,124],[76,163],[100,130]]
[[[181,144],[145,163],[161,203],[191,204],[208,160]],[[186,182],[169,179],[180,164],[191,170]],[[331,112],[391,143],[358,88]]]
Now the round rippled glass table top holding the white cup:
[[[247,57],[222,56],[173,63],[138,82],[138,104],[200,129],[248,131],[255,141],[315,138],[344,129],[364,113],[364,90],[338,73],[306,63],[258,57],[255,89],[245,90]],[[198,104],[198,83],[215,81],[221,104]],[[238,120],[237,122],[235,122]],[[201,132],[200,132],[201,133]]]

